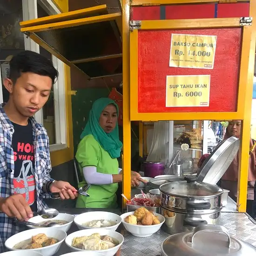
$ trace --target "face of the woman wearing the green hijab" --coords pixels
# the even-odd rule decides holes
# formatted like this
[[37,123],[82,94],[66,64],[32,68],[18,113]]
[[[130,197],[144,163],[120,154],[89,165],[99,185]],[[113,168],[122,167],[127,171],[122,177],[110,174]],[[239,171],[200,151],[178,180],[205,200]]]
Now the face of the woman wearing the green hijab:
[[100,116],[100,126],[106,132],[110,133],[115,129],[117,122],[117,110],[115,105],[109,104],[103,109]]

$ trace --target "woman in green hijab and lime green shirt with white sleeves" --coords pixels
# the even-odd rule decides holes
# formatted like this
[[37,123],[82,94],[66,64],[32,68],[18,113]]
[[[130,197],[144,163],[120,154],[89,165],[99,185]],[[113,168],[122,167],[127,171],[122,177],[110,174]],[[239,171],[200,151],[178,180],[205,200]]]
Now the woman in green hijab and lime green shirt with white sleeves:
[[[78,208],[116,208],[118,182],[122,181],[117,158],[120,157],[122,142],[119,140],[117,125],[118,106],[109,98],[94,102],[89,120],[81,134],[76,152],[83,181],[79,187],[91,184],[90,197],[79,195]],[[132,172],[131,184],[137,186],[138,173]]]

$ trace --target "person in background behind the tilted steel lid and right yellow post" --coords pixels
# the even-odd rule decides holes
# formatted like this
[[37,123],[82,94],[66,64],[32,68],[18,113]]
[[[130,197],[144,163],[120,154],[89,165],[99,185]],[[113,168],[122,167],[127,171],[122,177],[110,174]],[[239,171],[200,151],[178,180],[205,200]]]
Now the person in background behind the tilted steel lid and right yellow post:
[[[226,129],[226,134],[223,140],[228,139],[231,136],[236,136],[240,138],[241,133],[241,121],[233,120],[229,122]],[[198,162],[198,167],[200,168],[209,157],[208,154],[203,155]],[[224,175],[221,178],[221,188],[228,189],[229,196],[236,201],[237,200],[237,181],[238,181],[238,168],[239,168],[239,153],[236,154],[235,159],[229,165]],[[256,181],[256,147],[252,139],[250,139],[250,150],[249,150],[249,168],[248,168],[248,187],[247,187],[247,206],[246,212],[254,217],[254,187]]]

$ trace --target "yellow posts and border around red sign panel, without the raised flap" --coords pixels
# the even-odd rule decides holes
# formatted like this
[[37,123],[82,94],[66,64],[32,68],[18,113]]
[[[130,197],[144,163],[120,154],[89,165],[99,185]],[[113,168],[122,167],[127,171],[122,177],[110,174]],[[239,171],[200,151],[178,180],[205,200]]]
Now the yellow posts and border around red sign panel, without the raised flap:
[[[123,90],[124,104],[127,107],[124,113],[124,170],[130,169],[130,121],[160,121],[160,120],[243,120],[240,150],[240,170],[238,181],[237,209],[246,211],[249,139],[252,85],[254,74],[256,22],[252,26],[243,27],[243,41],[241,53],[241,67],[238,87],[236,112],[211,113],[138,113],[138,29],[130,32],[128,19],[131,6],[157,6],[161,4],[209,3],[212,0],[134,0],[123,1]],[[220,1],[219,1],[220,2]],[[225,1],[222,1],[225,2]],[[226,1],[228,2],[228,1]],[[230,1],[229,1],[230,2]],[[240,1],[243,2],[243,1]],[[250,17],[256,19],[256,1],[250,1]],[[139,29],[188,29],[188,28],[224,28],[240,27],[240,18],[216,18],[194,20],[142,20]],[[130,47],[131,46],[131,47]],[[130,65],[132,63],[132,65]],[[130,74],[130,75],[127,75]],[[130,97],[129,94],[130,93]],[[131,96],[132,95],[132,96]],[[130,103],[130,113],[128,106]],[[125,108],[124,108],[125,109]],[[248,111],[249,110],[249,111]],[[128,118],[130,115],[130,119]],[[142,150],[140,150],[141,153]],[[124,181],[129,180],[128,171],[124,171]],[[124,182],[123,192],[130,195],[130,183]]]

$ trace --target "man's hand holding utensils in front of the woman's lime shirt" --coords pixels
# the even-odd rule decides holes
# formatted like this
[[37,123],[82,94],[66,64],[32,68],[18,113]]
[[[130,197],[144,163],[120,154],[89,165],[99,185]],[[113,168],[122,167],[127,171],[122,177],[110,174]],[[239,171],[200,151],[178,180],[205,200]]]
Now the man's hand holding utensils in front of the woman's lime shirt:
[[50,186],[52,193],[59,192],[61,199],[75,199],[78,196],[77,189],[71,186],[68,182],[55,181]]

